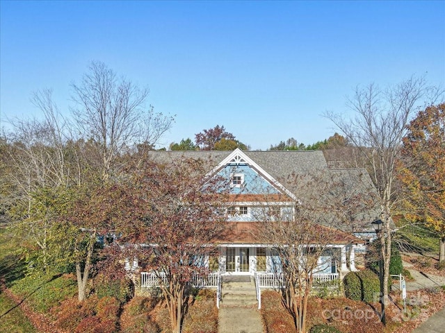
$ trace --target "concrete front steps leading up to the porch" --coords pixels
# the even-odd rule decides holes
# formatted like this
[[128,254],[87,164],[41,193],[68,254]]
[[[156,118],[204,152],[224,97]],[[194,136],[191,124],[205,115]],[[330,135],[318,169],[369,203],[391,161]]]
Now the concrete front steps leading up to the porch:
[[220,305],[223,307],[257,307],[257,291],[252,278],[223,278]]

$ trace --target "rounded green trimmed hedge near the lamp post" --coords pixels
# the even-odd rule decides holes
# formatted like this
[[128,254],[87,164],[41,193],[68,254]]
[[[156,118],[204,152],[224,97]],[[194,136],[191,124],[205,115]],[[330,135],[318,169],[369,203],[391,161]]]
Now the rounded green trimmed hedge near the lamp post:
[[375,275],[369,269],[346,274],[343,284],[345,296],[351,300],[362,300],[363,302],[370,303],[378,300],[378,295],[380,295],[378,275]]

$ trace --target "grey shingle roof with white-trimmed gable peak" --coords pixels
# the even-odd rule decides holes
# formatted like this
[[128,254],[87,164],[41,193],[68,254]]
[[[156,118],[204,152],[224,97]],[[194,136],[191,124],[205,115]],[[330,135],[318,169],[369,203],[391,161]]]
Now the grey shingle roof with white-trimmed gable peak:
[[[289,189],[291,184],[286,180],[290,175],[320,174],[333,176],[346,183],[350,191],[369,196],[375,187],[365,169],[332,169],[329,168],[323,151],[150,151],[152,160],[169,163],[179,158],[192,158],[210,162],[209,173],[214,173],[231,162],[243,162],[253,167],[274,186],[295,198]],[[366,207],[366,210],[355,218],[355,231],[373,231],[371,221],[380,216],[378,207]],[[349,230],[354,231],[354,230]]]

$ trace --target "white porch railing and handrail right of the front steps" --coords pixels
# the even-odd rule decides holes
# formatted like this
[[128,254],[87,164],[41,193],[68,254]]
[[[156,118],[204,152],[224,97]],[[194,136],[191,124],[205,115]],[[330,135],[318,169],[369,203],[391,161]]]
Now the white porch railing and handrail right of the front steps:
[[[339,273],[315,273],[314,282],[331,282],[339,280]],[[258,309],[261,309],[261,289],[284,288],[283,273],[255,273],[255,288],[257,289]]]

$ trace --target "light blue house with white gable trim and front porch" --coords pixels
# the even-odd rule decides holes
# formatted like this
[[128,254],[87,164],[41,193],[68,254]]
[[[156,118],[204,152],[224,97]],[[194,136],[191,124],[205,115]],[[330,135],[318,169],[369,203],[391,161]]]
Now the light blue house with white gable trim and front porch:
[[[281,272],[282,263],[273,244],[260,241],[252,230],[256,223],[261,222],[261,211],[266,206],[271,216],[293,214],[295,203],[305,194],[293,192],[288,182],[289,175],[319,173],[332,176],[341,180],[347,191],[362,197],[375,191],[364,169],[332,169],[328,167],[322,151],[241,151],[237,148],[235,151],[154,151],[151,155],[154,161],[163,163],[179,157],[211,159],[215,163],[209,175],[218,174],[230,181],[231,199],[227,203],[229,228],[218,241],[219,251],[215,257],[204,258],[204,263],[212,271],[223,276]],[[318,258],[315,272],[318,278],[337,279],[357,269],[356,250],[362,251],[364,238],[373,237],[371,221],[377,216],[375,207],[364,205],[361,212],[351,214],[351,223],[343,230],[332,230],[336,237]],[[147,278],[147,273],[143,274]]]

